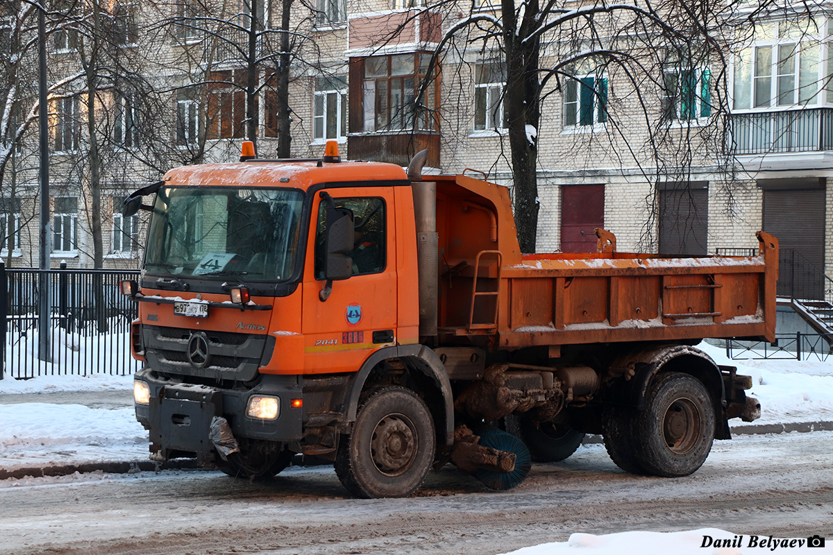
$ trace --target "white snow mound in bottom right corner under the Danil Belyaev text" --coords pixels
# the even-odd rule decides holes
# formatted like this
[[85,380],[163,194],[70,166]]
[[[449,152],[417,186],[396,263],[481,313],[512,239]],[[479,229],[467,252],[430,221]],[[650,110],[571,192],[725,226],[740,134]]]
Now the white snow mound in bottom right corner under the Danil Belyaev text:
[[[602,536],[575,533],[566,542],[542,543],[504,555],[747,555],[772,553],[776,549],[777,553],[806,553],[807,538],[741,535],[717,528],[674,533],[622,532]],[[826,549],[821,552],[826,552]]]

